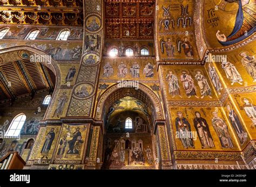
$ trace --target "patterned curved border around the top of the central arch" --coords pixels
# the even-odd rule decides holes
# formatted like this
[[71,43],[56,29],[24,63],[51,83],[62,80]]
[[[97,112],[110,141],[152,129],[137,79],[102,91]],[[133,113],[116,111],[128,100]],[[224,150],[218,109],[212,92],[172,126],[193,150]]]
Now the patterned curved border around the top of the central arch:
[[[103,108],[105,107],[105,102],[107,98],[109,98],[110,95],[112,95],[117,90],[122,89],[118,84],[112,85],[110,88],[106,89],[106,91],[102,94],[102,96],[99,96],[98,103],[96,105],[96,112],[95,112],[95,119],[96,120],[102,120],[103,119]],[[154,109],[156,110],[156,120],[164,120],[164,113],[163,108],[161,106],[161,102],[156,95],[156,93],[153,92],[153,90],[147,88],[144,84],[139,84],[140,91],[144,92],[151,100]]]

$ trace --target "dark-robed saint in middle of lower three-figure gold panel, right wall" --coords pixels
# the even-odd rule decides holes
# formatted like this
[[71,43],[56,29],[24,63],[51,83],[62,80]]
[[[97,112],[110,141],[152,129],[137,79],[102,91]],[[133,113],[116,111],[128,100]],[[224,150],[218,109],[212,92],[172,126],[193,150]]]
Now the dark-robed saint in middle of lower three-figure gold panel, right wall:
[[207,121],[201,117],[199,112],[195,112],[195,114],[194,127],[197,130],[202,148],[215,147]]

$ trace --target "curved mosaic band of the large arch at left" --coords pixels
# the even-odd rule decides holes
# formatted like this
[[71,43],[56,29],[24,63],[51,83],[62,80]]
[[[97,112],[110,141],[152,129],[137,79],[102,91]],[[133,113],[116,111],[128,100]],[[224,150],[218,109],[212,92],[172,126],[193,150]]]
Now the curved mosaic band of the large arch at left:
[[[30,56],[38,55],[41,57],[41,59],[44,59],[42,62],[39,62],[39,63],[43,64],[45,67],[48,67],[56,77],[55,88],[53,90],[51,100],[57,99],[57,95],[58,95],[58,92],[60,89],[60,83],[61,83],[61,76],[60,76],[61,74],[60,74],[60,69],[57,61],[54,60],[51,55],[39,49],[29,47],[29,46],[15,46],[15,47],[10,47],[10,48],[5,48],[0,50],[0,65],[11,62],[11,61],[5,62],[5,60],[2,58],[2,55],[5,56],[6,54],[12,53],[12,52],[28,52]],[[46,118],[49,118],[50,113],[53,110],[52,108],[53,108],[53,103],[50,102],[45,112],[43,120],[45,120]]]

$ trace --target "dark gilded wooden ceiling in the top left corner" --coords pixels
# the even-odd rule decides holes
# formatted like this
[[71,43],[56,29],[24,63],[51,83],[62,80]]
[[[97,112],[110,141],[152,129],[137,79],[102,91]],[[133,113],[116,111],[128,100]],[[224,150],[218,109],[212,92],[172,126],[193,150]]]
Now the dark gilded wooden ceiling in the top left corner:
[[83,0],[0,0],[0,23],[83,26]]

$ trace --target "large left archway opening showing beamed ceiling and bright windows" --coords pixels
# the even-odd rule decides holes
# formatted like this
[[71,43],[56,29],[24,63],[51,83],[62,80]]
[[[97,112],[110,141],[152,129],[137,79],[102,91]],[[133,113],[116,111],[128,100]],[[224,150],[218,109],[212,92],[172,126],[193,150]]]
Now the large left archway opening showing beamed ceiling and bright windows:
[[[39,132],[39,121],[43,120],[52,101],[58,70],[51,57],[33,50],[30,47],[16,47],[0,52],[2,56],[16,54],[16,59],[3,58],[0,64],[0,128],[3,132],[15,129],[18,132],[15,137],[19,137],[14,144],[6,134],[0,143],[0,158],[14,150],[24,160],[28,159]],[[23,124],[11,127],[12,120],[20,113],[26,116],[24,121],[20,120]],[[14,122],[17,123],[17,120]]]

